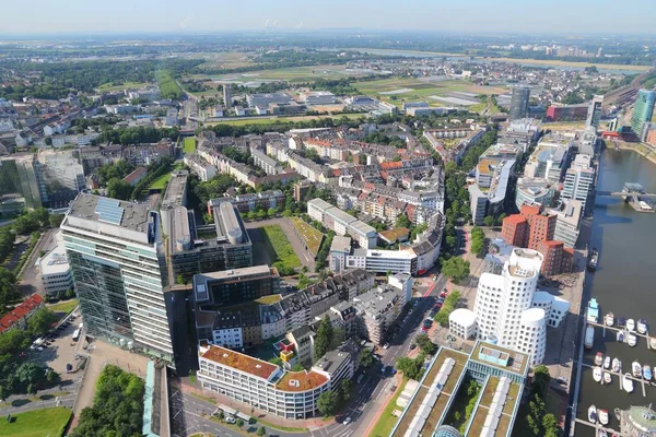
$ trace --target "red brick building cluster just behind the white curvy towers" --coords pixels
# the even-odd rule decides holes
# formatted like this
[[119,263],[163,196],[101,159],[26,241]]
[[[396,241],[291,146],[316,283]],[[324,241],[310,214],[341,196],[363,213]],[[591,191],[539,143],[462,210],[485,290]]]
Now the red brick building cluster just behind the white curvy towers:
[[509,245],[534,249],[542,253],[544,276],[572,271],[573,249],[553,239],[557,216],[540,213],[539,205],[523,205],[519,214],[503,220],[502,238]]

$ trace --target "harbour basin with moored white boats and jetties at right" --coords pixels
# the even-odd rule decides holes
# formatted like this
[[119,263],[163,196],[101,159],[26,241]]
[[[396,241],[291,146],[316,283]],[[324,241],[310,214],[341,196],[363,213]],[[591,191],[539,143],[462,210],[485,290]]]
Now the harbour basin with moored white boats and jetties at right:
[[[656,166],[633,152],[616,152],[606,150],[599,164],[597,190],[616,191],[626,180],[641,184],[646,192],[656,192]],[[597,437],[604,430],[608,436],[630,436],[635,429],[628,425],[631,414],[633,423],[643,421],[636,413],[652,402],[656,404],[656,387],[654,386],[654,367],[656,366],[656,339],[652,335],[649,322],[656,323],[656,299],[649,284],[656,281],[656,258],[652,247],[656,247],[656,233],[653,233],[654,215],[639,214],[631,204],[616,197],[597,197],[595,200],[590,248],[598,252],[597,265],[586,273],[584,303],[581,311],[583,323],[579,327],[581,355],[575,356],[578,383],[573,392],[574,423],[569,429],[570,436]],[[588,258],[588,263],[591,257]],[[587,322],[587,300],[595,297],[598,303],[597,321]],[[612,318],[610,315],[612,314]],[[626,328],[628,319],[633,318],[634,331]],[[641,333],[639,324],[645,320],[645,333]],[[586,332],[591,339],[586,342]],[[631,334],[631,335],[629,335]],[[619,339],[619,340],[618,340]],[[629,345],[630,339],[635,346]],[[611,357],[611,368],[602,369],[611,377],[611,383],[596,382],[593,378],[595,357],[598,352]],[[616,361],[617,359],[617,361]],[[641,364],[643,375],[634,378],[632,363]],[[644,366],[651,367],[652,380],[644,378]],[[625,377],[625,374],[629,375]],[[605,381],[602,377],[602,381]],[[628,392],[623,387],[626,382]],[[633,387],[631,387],[633,386]],[[609,424],[589,423],[587,413],[590,405],[618,412],[624,418],[623,427],[614,414],[610,414]],[[642,406],[641,406],[642,405]],[[632,410],[633,409],[633,410]],[[637,417],[637,418],[635,418]],[[648,422],[648,421],[645,421]],[[649,429],[648,427],[646,429]],[[656,427],[653,430],[656,435]]]

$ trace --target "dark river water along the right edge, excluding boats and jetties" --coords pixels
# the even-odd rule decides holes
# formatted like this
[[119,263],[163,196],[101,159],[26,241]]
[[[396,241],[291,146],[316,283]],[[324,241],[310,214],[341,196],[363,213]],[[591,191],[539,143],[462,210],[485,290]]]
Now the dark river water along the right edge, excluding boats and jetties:
[[[597,190],[619,191],[625,181],[639,182],[646,192],[656,192],[656,165],[628,151],[606,150],[600,160],[600,173]],[[612,311],[618,317],[645,318],[656,334],[656,214],[639,213],[621,199],[598,198],[595,204],[595,217],[591,229],[590,248],[599,250],[599,267],[594,274],[588,273],[584,303],[589,296],[599,302],[601,314]],[[602,318],[601,318],[602,320]],[[600,320],[600,321],[601,321]],[[593,364],[595,354],[602,352],[622,361],[624,371],[631,369],[631,363],[656,366],[656,351],[647,350],[644,339],[639,339],[635,347],[618,343],[614,332],[607,331],[606,339],[601,329],[595,329],[595,344],[586,351],[584,362]],[[577,417],[587,421],[590,404],[606,409],[610,423],[619,429],[613,409],[626,409],[630,405],[656,403],[656,388],[647,388],[647,398],[635,383],[633,393],[620,391],[618,378],[612,385],[600,386],[593,380],[593,371],[587,368],[582,374],[581,395]],[[587,426],[576,426],[576,436],[594,436]]]

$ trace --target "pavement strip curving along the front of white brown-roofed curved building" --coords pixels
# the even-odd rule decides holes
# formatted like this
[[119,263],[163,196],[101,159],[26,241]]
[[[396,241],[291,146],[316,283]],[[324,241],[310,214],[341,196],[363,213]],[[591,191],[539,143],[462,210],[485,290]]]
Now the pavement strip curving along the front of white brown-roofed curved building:
[[209,391],[209,390],[203,390],[200,388],[199,382],[191,386],[191,385],[189,385],[189,382],[181,381],[180,389],[181,389],[183,393],[188,393],[191,395],[197,394],[199,397],[206,398],[208,400],[208,402],[211,399],[216,403],[216,405],[223,403],[235,410],[242,411],[245,414],[251,415],[258,420],[266,421],[266,422],[270,423],[272,427],[281,426],[281,427],[286,427],[286,428],[316,429],[316,428],[323,428],[325,426],[328,426],[328,425],[331,425],[335,423],[335,417],[330,418],[330,420],[326,420],[326,421],[323,420],[321,417],[293,421],[293,420],[280,417],[277,415],[272,415],[270,413],[267,413],[266,411],[253,408],[253,406],[247,405],[242,402],[237,402],[234,399],[227,398],[223,394],[215,393],[215,392]]

